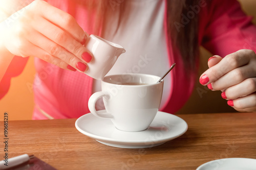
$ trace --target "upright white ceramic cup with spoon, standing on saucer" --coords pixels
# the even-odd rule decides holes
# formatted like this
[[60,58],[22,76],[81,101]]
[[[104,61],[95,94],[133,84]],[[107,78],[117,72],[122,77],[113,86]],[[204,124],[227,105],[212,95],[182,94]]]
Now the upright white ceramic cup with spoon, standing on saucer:
[[[161,103],[163,81],[156,83],[159,79],[145,74],[106,76],[101,80],[102,91],[90,97],[89,109],[97,117],[111,119],[119,130],[143,131],[152,123]],[[145,85],[123,85],[125,83]],[[103,98],[105,113],[95,109],[99,98]]]

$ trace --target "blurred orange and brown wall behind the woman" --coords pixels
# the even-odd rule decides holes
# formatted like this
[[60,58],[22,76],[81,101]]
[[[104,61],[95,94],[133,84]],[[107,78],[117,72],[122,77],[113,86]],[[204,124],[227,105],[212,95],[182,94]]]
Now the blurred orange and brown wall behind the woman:
[[[254,16],[256,23],[256,1],[239,0],[242,8],[248,15]],[[212,54],[201,48],[201,60],[198,73],[200,75],[208,68],[207,61]],[[8,93],[0,100],[0,113],[8,112],[10,120],[27,120],[32,118],[34,107],[32,84],[35,75],[34,59],[31,57],[21,75],[11,80]],[[186,105],[178,112],[179,114],[189,113],[214,113],[214,112],[235,112],[227,105],[227,101],[221,98],[220,91],[211,91],[197,81],[195,89]],[[177,114],[178,114],[177,113]],[[0,117],[3,120],[3,116]]]

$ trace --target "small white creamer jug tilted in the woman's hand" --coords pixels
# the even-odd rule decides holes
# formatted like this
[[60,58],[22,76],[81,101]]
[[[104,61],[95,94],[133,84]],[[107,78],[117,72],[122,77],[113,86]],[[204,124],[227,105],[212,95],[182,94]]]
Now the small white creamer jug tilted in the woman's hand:
[[117,58],[125,52],[121,45],[96,35],[90,35],[84,46],[93,54],[93,60],[87,63],[89,69],[86,74],[98,80],[110,71]]

